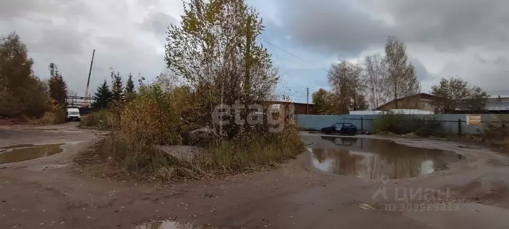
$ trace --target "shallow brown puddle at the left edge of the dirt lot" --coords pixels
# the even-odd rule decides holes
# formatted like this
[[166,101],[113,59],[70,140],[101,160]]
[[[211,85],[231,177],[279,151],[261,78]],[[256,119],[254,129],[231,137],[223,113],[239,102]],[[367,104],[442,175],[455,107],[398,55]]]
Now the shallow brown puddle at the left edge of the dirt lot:
[[0,164],[32,160],[39,157],[58,154],[63,151],[63,149],[60,148],[62,145],[64,144],[51,144],[41,146],[23,144],[0,147]]

